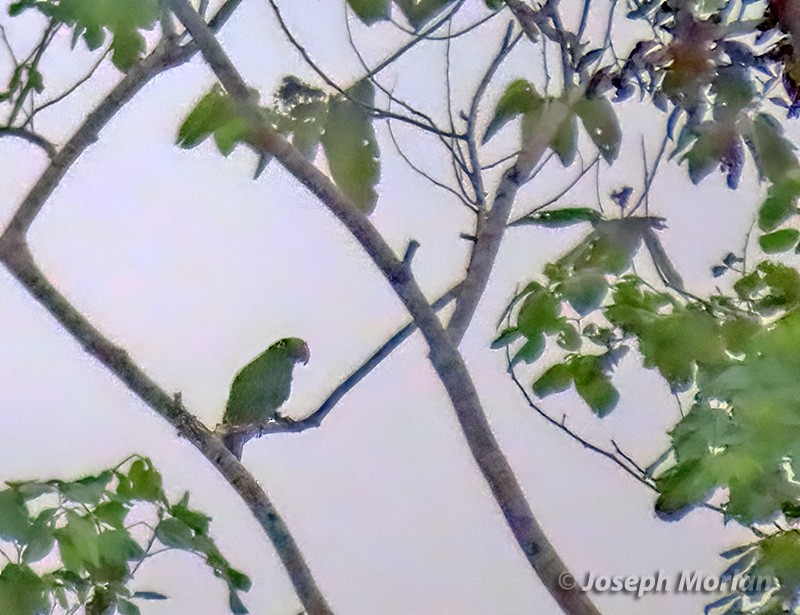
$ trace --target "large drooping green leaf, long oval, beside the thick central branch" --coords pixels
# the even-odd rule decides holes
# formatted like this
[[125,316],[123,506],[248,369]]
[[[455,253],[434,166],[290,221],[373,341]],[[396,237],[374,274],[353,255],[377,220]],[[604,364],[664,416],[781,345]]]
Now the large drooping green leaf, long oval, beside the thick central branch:
[[336,185],[370,213],[378,201],[380,152],[372,116],[364,105],[374,104],[375,90],[369,81],[359,81],[347,94],[349,98],[331,99],[321,142]]

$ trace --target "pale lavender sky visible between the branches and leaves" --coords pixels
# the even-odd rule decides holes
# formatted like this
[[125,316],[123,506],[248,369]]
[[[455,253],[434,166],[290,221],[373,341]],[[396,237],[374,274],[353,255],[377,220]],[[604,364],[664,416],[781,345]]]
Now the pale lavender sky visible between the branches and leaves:
[[[347,83],[357,75],[340,0],[281,4],[298,37],[334,78]],[[468,2],[461,19],[483,14],[482,5],[482,0]],[[461,106],[499,44],[506,20],[498,18],[454,45]],[[20,49],[37,32],[28,17],[4,16],[0,23]],[[401,40],[390,26],[356,32],[373,61]],[[283,74],[309,76],[264,0],[245,0],[221,39],[244,76],[266,94]],[[45,64],[46,79],[56,90],[69,82],[67,74],[80,75],[89,62],[83,51],[68,51],[66,33],[58,46],[60,53]],[[441,117],[441,52],[441,46],[420,45],[387,71],[383,82]],[[503,67],[500,87],[512,78],[535,76],[526,53],[530,47],[520,46]],[[111,67],[101,70],[74,99],[43,113],[38,129],[62,140],[118,78]],[[50,199],[33,227],[33,251],[96,326],[164,388],[181,391],[187,407],[212,426],[242,365],[276,339],[304,338],[311,361],[298,371],[288,407],[302,416],[406,316],[346,231],[278,167],[254,182],[253,156],[243,149],[225,160],[211,143],[190,152],[174,145],[181,118],[212,82],[196,58],[148,85]],[[490,92],[487,113],[500,87]],[[625,142],[614,167],[603,168],[603,195],[625,183],[641,185],[641,129],[663,120],[635,100],[618,111]],[[449,162],[430,139],[420,142],[407,129],[399,133],[415,160],[445,176]],[[503,134],[491,151],[513,139],[513,129]],[[420,242],[414,271],[425,292],[438,296],[463,270],[468,246],[458,234],[470,230],[470,215],[404,166],[385,128],[379,136],[383,174],[372,219],[400,253],[409,239]],[[654,152],[658,131],[645,136]],[[0,223],[5,224],[46,160],[10,139],[0,140],[0,160]],[[576,172],[565,174],[551,164],[553,172],[525,188],[519,211],[552,196]],[[749,228],[760,189],[751,165],[745,176],[738,192],[728,191],[717,176],[692,187],[685,169],[667,165],[654,185],[651,212],[668,217],[664,243],[696,292],[713,287],[709,267],[738,250]],[[594,193],[587,181],[565,202],[592,205]],[[579,579],[589,571],[716,574],[724,567],[717,554],[747,540],[747,532],[724,528],[708,511],[677,523],[656,519],[653,494],[545,424],[505,374],[502,353],[488,349],[515,286],[536,276],[585,232],[509,232],[462,346],[484,407],[531,507]],[[556,355],[525,372],[526,380],[546,367],[549,356]],[[635,354],[623,361],[616,381],[621,403],[602,421],[571,392],[543,405],[557,416],[567,413],[571,425],[604,445],[616,438],[649,463],[677,420],[674,400]],[[6,416],[0,431],[2,478],[66,478],[113,465],[132,452],[148,455],[171,494],[189,490],[194,505],[213,516],[212,532],[223,552],[253,579],[253,589],[243,596],[250,612],[297,613],[299,602],[274,550],[234,492],[165,421],[89,359],[5,271],[0,271],[0,406]],[[506,528],[419,337],[349,394],[322,428],[252,442],[244,462],[286,519],[337,613],[559,612]],[[226,612],[223,583],[188,556],[153,559],[137,574],[135,587],[171,596],[166,604],[143,603],[147,615]],[[600,610],[614,615],[701,613],[713,599],[595,596]]]

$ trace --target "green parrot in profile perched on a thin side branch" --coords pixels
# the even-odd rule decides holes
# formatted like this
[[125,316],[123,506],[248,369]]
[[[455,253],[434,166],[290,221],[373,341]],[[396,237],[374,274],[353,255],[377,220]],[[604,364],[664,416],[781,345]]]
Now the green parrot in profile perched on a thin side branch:
[[289,399],[295,363],[305,365],[309,357],[308,345],[297,337],[275,342],[236,374],[222,422],[243,426],[274,418]]

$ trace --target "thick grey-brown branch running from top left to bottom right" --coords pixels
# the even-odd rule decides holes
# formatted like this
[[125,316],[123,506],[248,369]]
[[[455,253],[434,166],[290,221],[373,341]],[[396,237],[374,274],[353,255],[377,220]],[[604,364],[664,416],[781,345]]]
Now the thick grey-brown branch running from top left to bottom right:
[[327,175],[267,125],[247,84],[188,0],[170,0],[170,5],[247,120],[250,143],[273,155],[339,219],[370,256],[411,314],[428,343],[431,364],[455,409],[473,459],[531,567],[567,613],[597,615],[598,611],[588,596],[567,590],[559,584],[559,577],[563,579],[568,570],[536,521],[508,460],[500,450],[463,357],[451,343],[410,268],[395,255],[366,214]]

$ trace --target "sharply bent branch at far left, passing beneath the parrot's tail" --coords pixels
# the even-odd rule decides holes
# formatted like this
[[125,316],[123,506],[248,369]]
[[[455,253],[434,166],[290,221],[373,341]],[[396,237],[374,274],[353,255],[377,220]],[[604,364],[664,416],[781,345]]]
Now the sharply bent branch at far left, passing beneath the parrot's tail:
[[[241,0],[227,0],[209,23],[220,28]],[[186,411],[179,398],[162,390],[127,353],[105,338],[61,295],[36,266],[26,242],[31,224],[69,168],[98,139],[99,132],[156,75],[189,60],[194,43],[183,47],[162,41],[153,53],[137,63],[86,118],[39,177],[0,236],[0,262],[48,312],[127,387],[173,425],[226,478],[247,504],[272,541],[303,607],[310,614],[331,613],[294,538],[269,497],[253,476],[198,419]]]

